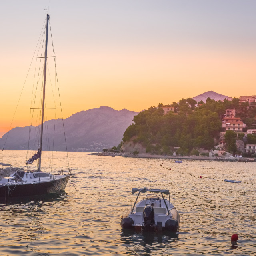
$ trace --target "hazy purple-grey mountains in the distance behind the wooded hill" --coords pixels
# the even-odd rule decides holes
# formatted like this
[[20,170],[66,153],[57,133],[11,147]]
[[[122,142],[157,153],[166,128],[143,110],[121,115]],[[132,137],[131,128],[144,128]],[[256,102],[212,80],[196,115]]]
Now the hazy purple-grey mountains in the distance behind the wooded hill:
[[[193,99],[197,102],[210,97],[214,100],[223,100],[228,96],[218,94],[213,91],[204,92]],[[101,106],[86,111],[81,111],[63,120],[65,127],[65,135],[68,151],[84,151],[84,152],[102,152],[103,148],[112,148],[117,146],[123,138],[126,128],[132,124],[132,120],[138,112],[129,111],[127,109],[114,110],[113,108]],[[52,150],[54,142],[55,151],[65,151],[66,145],[64,140],[62,119],[49,120],[44,122],[44,127],[48,131],[55,129],[55,135],[44,134],[44,143],[42,150]],[[30,139],[28,146],[28,134],[30,131]],[[0,138],[0,148],[10,150],[37,150],[38,147],[39,127],[26,126],[15,127],[10,130],[8,140],[7,133]],[[49,146],[50,145],[50,146]]]

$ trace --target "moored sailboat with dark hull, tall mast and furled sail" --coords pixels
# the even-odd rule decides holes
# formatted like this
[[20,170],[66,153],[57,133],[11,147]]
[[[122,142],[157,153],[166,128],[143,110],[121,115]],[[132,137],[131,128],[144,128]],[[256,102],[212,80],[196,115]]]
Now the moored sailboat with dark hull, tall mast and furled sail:
[[[48,48],[48,27],[49,14],[46,16],[45,42],[44,42],[44,69],[42,83],[42,97],[40,108],[41,124],[38,126],[40,130],[40,143],[37,152],[28,160],[26,160],[26,170],[24,168],[14,168],[12,164],[0,163],[2,166],[8,167],[13,171],[8,177],[0,178],[0,198],[12,198],[21,196],[35,196],[42,194],[50,194],[62,191],[66,188],[66,184],[74,174],[71,173],[72,168],[68,166],[67,173],[64,174],[63,168],[58,171],[58,174],[42,171],[42,145],[43,145],[43,129],[44,129],[44,114],[45,114],[45,91],[46,91],[46,69],[47,69],[47,48]],[[43,47],[42,47],[43,48]],[[43,51],[42,51],[43,52]],[[37,163],[33,170],[33,162]],[[7,169],[7,168],[6,168]]]

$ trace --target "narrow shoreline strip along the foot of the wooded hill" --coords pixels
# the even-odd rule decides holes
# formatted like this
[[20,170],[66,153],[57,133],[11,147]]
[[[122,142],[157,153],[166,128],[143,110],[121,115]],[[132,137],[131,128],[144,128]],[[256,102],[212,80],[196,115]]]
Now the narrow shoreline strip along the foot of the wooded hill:
[[97,156],[122,156],[122,157],[133,157],[133,158],[162,158],[162,159],[175,159],[175,160],[208,160],[208,161],[230,161],[230,162],[256,162],[254,158],[238,158],[238,157],[221,157],[216,158],[215,156],[162,156],[162,155],[152,155],[147,153],[142,153],[138,155],[134,155],[132,153],[90,153],[90,155]]

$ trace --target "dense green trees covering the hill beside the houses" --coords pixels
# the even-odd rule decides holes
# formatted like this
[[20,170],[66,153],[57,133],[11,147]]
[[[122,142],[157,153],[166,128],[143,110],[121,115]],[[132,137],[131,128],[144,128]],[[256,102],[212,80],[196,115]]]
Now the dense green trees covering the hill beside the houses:
[[188,98],[173,102],[174,112],[164,115],[164,110],[152,106],[134,116],[134,124],[124,132],[123,142],[133,138],[146,147],[146,152],[172,154],[174,147],[180,147],[180,154],[196,154],[196,148],[210,150],[217,144],[222,131],[221,117],[226,109],[235,108],[236,116],[251,126],[255,122],[256,108],[248,103],[239,104],[239,99],[224,102],[208,98],[205,104],[195,107],[196,101]]

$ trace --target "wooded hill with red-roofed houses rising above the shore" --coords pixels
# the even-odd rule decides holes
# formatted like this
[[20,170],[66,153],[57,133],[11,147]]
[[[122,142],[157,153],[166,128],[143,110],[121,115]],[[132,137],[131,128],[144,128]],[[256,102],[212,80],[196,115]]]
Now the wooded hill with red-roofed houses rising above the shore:
[[[159,103],[134,116],[133,121],[121,144],[112,148],[121,155],[241,161],[256,158],[256,95]],[[106,149],[103,154],[108,152]]]

